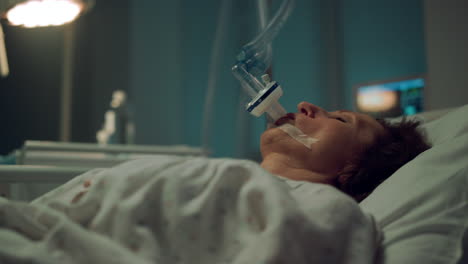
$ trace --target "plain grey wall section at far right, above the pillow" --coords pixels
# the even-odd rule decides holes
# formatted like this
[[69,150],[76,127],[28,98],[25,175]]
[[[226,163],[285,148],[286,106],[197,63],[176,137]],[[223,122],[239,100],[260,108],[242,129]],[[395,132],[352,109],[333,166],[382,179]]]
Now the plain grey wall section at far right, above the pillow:
[[427,109],[468,103],[468,1],[424,2]]

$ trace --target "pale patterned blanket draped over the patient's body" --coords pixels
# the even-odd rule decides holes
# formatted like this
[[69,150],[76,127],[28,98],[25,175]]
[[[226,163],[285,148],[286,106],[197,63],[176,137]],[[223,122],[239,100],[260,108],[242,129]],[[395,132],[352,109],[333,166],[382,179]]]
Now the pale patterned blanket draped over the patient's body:
[[157,156],[0,199],[0,263],[372,263],[372,216],[247,160]]

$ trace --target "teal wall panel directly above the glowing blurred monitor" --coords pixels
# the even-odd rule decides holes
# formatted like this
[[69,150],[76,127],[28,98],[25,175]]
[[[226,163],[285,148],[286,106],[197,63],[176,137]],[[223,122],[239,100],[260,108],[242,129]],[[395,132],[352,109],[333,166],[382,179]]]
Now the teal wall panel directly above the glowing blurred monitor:
[[423,1],[343,0],[343,90],[355,84],[426,72]]

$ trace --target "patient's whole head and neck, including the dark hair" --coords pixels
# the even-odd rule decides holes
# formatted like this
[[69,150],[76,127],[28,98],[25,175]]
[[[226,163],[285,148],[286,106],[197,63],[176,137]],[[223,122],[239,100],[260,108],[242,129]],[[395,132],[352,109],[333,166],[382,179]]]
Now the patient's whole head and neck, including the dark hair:
[[[291,180],[331,184],[361,201],[398,168],[430,148],[416,121],[389,123],[308,102],[261,137],[261,166]],[[289,123],[318,139],[307,148],[278,126]]]

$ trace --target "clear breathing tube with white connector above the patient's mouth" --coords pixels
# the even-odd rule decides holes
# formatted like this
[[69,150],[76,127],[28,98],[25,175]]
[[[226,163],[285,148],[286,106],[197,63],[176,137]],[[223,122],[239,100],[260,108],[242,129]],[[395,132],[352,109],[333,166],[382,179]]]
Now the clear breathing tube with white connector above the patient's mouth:
[[[234,76],[252,98],[246,110],[257,117],[266,112],[267,117],[273,121],[286,114],[286,110],[278,102],[283,90],[276,81],[270,80],[270,76],[264,73],[271,64],[271,42],[286,22],[293,6],[293,0],[284,0],[262,32],[242,47],[237,55],[237,62],[232,67]],[[257,79],[261,74],[263,82]]]

